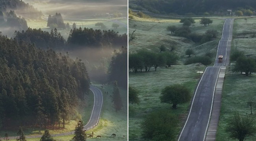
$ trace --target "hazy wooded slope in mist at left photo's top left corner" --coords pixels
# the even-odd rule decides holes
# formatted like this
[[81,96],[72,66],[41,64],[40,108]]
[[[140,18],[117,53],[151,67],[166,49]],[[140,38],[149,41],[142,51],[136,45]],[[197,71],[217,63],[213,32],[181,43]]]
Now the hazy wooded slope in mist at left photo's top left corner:
[[0,11],[7,12],[9,10],[15,10],[19,15],[26,18],[41,18],[43,16],[41,11],[22,0],[0,0]]

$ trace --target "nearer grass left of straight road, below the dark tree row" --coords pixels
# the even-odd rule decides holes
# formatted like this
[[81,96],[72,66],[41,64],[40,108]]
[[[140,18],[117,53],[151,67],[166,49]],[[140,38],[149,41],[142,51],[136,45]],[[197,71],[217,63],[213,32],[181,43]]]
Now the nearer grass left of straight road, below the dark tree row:
[[[175,134],[178,136],[184,121],[186,120],[189,103],[179,104],[177,109],[171,108],[171,104],[161,103],[159,96],[161,90],[168,85],[182,83],[191,90],[191,96],[197,85],[199,74],[205,66],[199,63],[191,65],[174,65],[167,69],[160,68],[157,71],[129,73],[129,86],[139,90],[139,105],[129,104],[129,140],[143,141],[141,137],[141,123],[145,116],[156,110],[171,110],[176,114],[180,122]],[[202,74],[201,74],[202,75]]]

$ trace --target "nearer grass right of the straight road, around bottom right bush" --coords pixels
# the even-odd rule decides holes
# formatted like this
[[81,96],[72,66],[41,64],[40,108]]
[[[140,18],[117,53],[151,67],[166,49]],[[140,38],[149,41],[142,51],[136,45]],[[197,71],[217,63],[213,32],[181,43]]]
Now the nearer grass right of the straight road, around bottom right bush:
[[[235,112],[238,112],[243,116],[252,116],[253,118],[256,118],[256,109],[253,107],[253,114],[250,115],[250,107],[247,106],[247,102],[256,101],[255,85],[255,74],[245,76],[240,73],[234,73],[234,76],[232,76],[232,67],[226,71],[216,141],[237,141],[231,139],[229,134],[225,131],[228,119],[231,118]],[[246,141],[255,140],[255,136],[246,139]]]

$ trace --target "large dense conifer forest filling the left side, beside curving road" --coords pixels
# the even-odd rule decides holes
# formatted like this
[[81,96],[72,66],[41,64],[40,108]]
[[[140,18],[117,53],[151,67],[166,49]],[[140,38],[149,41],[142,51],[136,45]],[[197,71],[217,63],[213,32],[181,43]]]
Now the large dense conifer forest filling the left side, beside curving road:
[[0,128],[64,127],[89,85],[81,60],[0,35]]

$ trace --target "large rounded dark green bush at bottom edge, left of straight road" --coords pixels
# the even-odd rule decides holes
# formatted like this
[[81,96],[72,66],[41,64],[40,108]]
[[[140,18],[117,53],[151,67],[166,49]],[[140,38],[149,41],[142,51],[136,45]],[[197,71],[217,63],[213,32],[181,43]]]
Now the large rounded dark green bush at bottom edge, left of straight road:
[[[152,112],[141,124],[144,139],[153,141],[173,141],[176,136],[178,118],[166,110]],[[171,139],[171,140],[170,140]]]

